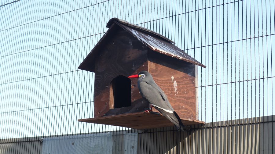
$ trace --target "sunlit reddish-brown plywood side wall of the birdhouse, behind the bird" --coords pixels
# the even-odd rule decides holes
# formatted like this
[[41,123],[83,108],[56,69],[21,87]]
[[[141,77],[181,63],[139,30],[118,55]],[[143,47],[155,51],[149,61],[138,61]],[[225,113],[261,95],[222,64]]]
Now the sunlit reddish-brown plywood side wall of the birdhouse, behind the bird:
[[196,120],[195,65],[154,51],[149,51],[148,65],[149,73],[179,117]]

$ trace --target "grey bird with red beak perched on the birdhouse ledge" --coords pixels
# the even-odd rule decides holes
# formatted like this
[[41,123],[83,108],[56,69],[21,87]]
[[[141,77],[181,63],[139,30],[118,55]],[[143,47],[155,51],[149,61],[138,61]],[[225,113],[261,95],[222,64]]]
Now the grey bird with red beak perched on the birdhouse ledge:
[[177,127],[178,131],[183,131],[184,125],[182,124],[182,120],[172,108],[165,93],[153,80],[152,75],[147,71],[141,71],[136,75],[129,76],[129,78],[133,77],[138,78],[138,89],[141,96],[151,104],[151,109],[147,111],[152,111],[152,106],[154,106],[155,109]]

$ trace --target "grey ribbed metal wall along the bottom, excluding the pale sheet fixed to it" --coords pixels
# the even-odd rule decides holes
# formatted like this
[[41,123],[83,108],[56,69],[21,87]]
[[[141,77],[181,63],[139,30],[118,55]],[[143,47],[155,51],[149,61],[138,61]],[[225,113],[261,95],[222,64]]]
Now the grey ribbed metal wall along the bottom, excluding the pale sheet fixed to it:
[[[275,153],[274,118],[265,116],[207,123],[202,128],[184,133],[174,130],[174,127],[125,132],[138,132],[139,154]],[[127,153],[122,150],[125,144],[123,132],[115,132],[113,153]],[[0,144],[0,153],[42,153],[43,142],[39,137],[25,140],[15,139]]]

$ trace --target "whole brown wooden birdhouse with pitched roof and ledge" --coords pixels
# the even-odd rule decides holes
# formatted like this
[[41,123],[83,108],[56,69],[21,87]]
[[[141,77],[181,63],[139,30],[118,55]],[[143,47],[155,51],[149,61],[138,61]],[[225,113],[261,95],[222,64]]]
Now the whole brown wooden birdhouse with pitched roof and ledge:
[[183,124],[198,121],[197,66],[206,67],[168,38],[124,20],[112,18],[106,34],[80,64],[94,72],[94,118],[82,122],[135,129],[173,126],[156,109],[148,110],[130,75],[146,70],[166,93]]

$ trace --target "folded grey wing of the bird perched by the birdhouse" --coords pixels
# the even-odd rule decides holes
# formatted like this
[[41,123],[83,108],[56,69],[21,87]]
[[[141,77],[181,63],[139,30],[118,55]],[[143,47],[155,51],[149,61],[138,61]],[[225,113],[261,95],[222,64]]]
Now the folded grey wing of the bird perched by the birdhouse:
[[167,96],[158,86],[156,86],[157,85],[148,84],[147,82],[140,82],[139,88],[141,95],[150,104],[152,104],[152,106],[156,106],[160,109],[165,110],[166,112],[173,113],[174,109],[168,101]]

